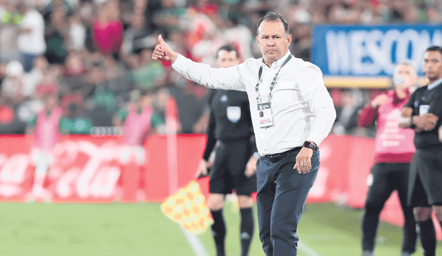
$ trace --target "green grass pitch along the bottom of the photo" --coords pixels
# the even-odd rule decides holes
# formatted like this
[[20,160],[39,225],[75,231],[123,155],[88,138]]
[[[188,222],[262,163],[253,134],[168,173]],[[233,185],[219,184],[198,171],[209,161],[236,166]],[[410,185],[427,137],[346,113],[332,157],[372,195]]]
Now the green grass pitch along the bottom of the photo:
[[[239,213],[227,204],[227,255],[238,256]],[[256,210],[255,210],[256,211]],[[361,254],[361,210],[309,204],[299,225],[300,256]],[[192,256],[180,228],[160,204],[0,203],[0,255]],[[263,256],[256,222],[251,256]],[[380,223],[376,255],[399,255],[401,228]],[[210,232],[200,235],[215,255]],[[442,243],[438,244],[438,255]],[[415,256],[421,256],[420,245]]]

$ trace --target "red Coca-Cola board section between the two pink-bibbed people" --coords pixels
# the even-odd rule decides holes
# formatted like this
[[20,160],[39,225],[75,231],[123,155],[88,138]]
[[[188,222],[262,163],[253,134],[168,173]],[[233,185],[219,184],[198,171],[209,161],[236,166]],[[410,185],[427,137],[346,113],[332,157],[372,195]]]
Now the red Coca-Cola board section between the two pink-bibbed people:
[[48,175],[55,201],[112,201],[121,175],[122,142],[114,137],[70,137],[57,144]]

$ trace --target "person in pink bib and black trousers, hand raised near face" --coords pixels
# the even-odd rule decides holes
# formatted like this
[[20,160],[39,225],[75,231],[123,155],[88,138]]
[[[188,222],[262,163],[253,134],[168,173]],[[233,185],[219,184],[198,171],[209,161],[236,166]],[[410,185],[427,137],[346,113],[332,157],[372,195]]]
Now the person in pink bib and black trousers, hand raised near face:
[[374,166],[367,184],[369,186],[362,217],[363,256],[374,255],[379,214],[396,190],[401,201],[405,224],[401,256],[412,255],[416,250],[416,222],[413,209],[407,206],[407,187],[410,163],[416,150],[414,131],[398,127],[403,106],[414,90],[417,81],[414,63],[403,61],[394,70],[394,89],[375,97],[358,114],[358,125],[370,127],[377,124]]

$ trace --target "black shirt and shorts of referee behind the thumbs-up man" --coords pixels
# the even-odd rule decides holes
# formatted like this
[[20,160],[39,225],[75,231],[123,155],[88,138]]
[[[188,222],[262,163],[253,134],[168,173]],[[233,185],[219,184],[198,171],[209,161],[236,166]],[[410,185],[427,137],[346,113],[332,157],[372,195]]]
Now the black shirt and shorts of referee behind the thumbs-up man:
[[256,175],[244,175],[256,144],[253,137],[249,99],[246,92],[210,90],[210,119],[204,160],[220,141],[210,170],[210,193],[251,195],[256,191]]

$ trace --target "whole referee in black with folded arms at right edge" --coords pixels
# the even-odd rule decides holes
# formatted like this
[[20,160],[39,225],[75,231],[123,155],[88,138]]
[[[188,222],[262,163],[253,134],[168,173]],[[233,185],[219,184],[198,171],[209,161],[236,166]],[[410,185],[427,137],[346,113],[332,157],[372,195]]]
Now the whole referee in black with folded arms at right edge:
[[399,123],[414,128],[414,153],[410,166],[408,204],[413,206],[424,256],[436,255],[436,233],[432,211],[442,226],[442,48],[425,50],[423,72],[428,85],[417,89],[404,106]]

